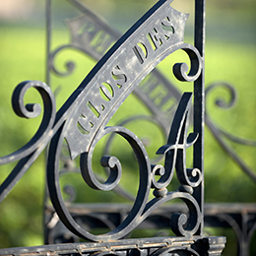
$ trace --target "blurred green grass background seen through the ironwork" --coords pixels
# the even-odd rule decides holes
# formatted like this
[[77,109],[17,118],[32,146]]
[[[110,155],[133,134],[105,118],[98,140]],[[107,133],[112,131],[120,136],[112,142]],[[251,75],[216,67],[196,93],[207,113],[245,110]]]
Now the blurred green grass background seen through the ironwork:
[[[10,1],[12,2],[12,1]],[[19,4],[18,4],[19,2]],[[121,32],[141,17],[156,1],[84,1],[92,10]],[[193,9],[193,1],[174,1],[173,6],[183,12]],[[25,80],[45,81],[45,27],[44,1],[21,1],[16,13],[10,16],[0,13],[0,141],[1,157],[14,152],[30,140],[39,121],[18,118],[11,107],[14,88]],[[20,5],[20,1],[16,4]],[[0,6],[4,3],[1,2]],[[27,4],[27,6],[26,6]],[[15,8],[13,6],[12,8]],[[23,9],[26,10],[22,11]],[[17,9],[17,7],[15,8]],[[9,9],[8,9],[9,10]],[[20,14],[19,14],[20,10]],[[66,1],[53,3],[54,32],[52,48],[69,41],[63,19],[77,12]],[[192,10],[193,11],[193,10]],[[8,12],[7,12],[8,13]],[[8,18],[9,17],[9,18]],[[192,42],[193,16],[188,21],[185,41]],[[212,118],[238,137],[256,140],[256,33],[255,1],[221,1],[207,3],[206,34],[206,86],[218,81],[232,84],[238,93],[238,100],[232,109],[218,109],[214,105],[216,96],[228,99],[223,89],[216,90],[207,103]],[[65,55],[66,54],[66,55]],[[160,71],[180,91],[189,91],[192,85],[177,83],[169,72],[180,56],[167,58],[160,63]],[[95,65],[95,61],[68,51],[58,57],[63,63],[67,58],[76,59],[76,72],[64,79],[52,77],[52,89],[61,86],[57,96],[58,107],[76,89],[82,79]],[[185,58],[185,57],[184,57]],[[61,66],[60,69],[64,70]],[[26,97],[28,102],[40,102],[33,92]],[[137,111],[138,106],[122,108],[119,115]],[[125,103],[126,104],[126,103]],[[146,111],[141,109],[142,112]],[[118,118],[117,118],[118,119]],[[239,155],[256,169],[256,150],[233,145]],[[0,182],[8,175],[13,164],[1,166]],[[44,191],[45,161],[42,154],[30,170],[15,186],[0,205],[0,247],[32,246],[42,244],[42,204]],[[206,128],[205,147],[206,202],[255,202],[256,186],[226,155]]]

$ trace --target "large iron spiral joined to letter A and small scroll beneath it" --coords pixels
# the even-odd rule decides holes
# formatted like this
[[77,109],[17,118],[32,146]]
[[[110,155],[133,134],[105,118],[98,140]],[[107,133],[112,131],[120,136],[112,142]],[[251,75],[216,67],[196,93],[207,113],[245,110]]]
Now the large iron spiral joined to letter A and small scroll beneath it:
[[[132,231],[138,224],[143,222],[155,209],[172,199],[181,199],[189,209],[189,216],[173,214],[171,216],[171,228],[177,235],[193,235],[198,231],[202,222],[202,213],[197,200],[193,197],[193,189],[202,181],[202,173],[199,169],[187,169],[185,166],[185,150],[193,145],[197,134],[191,134],[186,138],[188,128],[188,113],[192,94],[182,96],[180,105],[174,117],[167,145],[162,146],[158,154],[165,155],[164,167],[151,165],[149,156],[142,141],[131,131],[124,127],[106,127],[96,136],[88,152],[84,152],[80,158],[81,173],[86,183],[96,190],[109,191],[114,189],[122,174],[121,162],[115,157],[104,156],[101,165],[109,168],[106,181],[100,182],[92,167],[94,150],[97,142],[109,133],[122,136],[133,149],[139,163],[140,181],[138,193],[127,218],[122,224],[113,230],[100,235],[95,235],[77,224],[68,212],[61,195],[59,180],[59,158],[64,132],[60,129],[54,137],[49,149],[47,180],[53,206],[61,221],[76,235],[92,241],[116,240]],[[168,192],[166,186],[171,182],[176,168],[178,179],[181,183],[178,191]],[[182,172],[182,173],[180,173]],[[156,180],[155,175],[160,175]],[[148,202],[151,188],[154,188],[155,198]]]

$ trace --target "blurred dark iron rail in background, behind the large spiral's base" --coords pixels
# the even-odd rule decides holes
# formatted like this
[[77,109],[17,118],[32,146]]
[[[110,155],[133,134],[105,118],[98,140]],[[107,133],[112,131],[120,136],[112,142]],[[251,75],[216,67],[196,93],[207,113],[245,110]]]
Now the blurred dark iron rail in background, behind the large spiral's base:
[[[237,239],[237,254],[243,255],[249,252],[249,245],[255,231],[255,204],[216,203],[205,204],[204,225],[207,227],[231,228]],[[121,224],[122,220],[130,211],[129,204],[73,204],[69,206],[69,212],[80,223],[87,224],[90,231],[96,227],[108,230]],[[173,213],[186,214],[186,206],[182,204],[171,204],[160,206],[142,224],[129,233],[129,238],[139,234],[143,235],[145,230],[151,230],[152,236],[171,235],[166,228],[169,225],[169,216]],[[47,207],[48,223],[45,232],[45,243],[68,243],[79,242],[79,237],[70,232],[62,224],[52,207]],[[140,235],[140,237],[141,237]],[[227,237],[228,239],[228,237]],[[234,244],[232,244],[234,246]]]

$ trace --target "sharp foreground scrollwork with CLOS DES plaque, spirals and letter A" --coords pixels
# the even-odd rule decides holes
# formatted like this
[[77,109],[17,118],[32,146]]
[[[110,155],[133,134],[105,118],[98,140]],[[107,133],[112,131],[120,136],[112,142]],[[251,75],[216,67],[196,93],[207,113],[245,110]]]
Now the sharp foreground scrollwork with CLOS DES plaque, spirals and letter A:
[[[142,223],[160,205],[173,199],[180,199],[185,203],[188,215],[173,214],[170,217],[172,230],[181,236],[202,235],[203,198],[198,196],[200,194],[198,191],[203,187],[203,173],[197,167],[192,169],[186,167],[186,149],[197,143],[202,136],[192,133],[187,138],[192,93],[182,96],[167,144],[160,147],[157,153],[165,156],[164,166],[160,164],[152,166],[142,141],[134,133],[124,127],[106,127],[127,96],[138,87],[160,61],[176,50],[181,49],[188,54],[190,70],[188,71],[188,65],[184,63],[176,64],[173,67],[175,77],[187,82],[194,82],[200,77],[203,57],[195,46],[183,42],[188,15],[171,8],[171,2],[171,0],[166,0],[157,3],[131,30],[126,32],[100,59],[56,115],[52,93],[44,84],[33,84],[33,82],[29,85],[22,84],[15,91],[14,99],[18,95],[20,100],[21,96],[24,96],[24,90],[35,85],[35,89],[44,99],[45,113],[42,125],[32,138],[30,151],[23,149],[24,153],[21,156],[17,154],[18,157],[15,158],[6,157],[2,162],[25,157],[19,162],[14,172],[14,175],[16,173],[22,175],[46,147],[46,144],[51,141],[47,160],[49,195],[63,224],[82,238],[92,241],[119,239]],[[21,100],[20,102],[23,103]],[[34,114],[30,111],[37,113],[36,107],[32,108],[29,105],[23,108],[20,105],[14,107],[20,116],[33,117]],[[102,157],[101,165],[109,169],[109,175],[104,182],[97,179],[92,167],[96,144],[109,133],[122,136],[133,149],[139,162],[139,189],[126,219],[108,233],[96,235],[84,229],[68,212],[59,184],[59,160],[63,140],[66,140],[70,158],[74,160],[80,156],[81,173],[86,183],[96,190],[114,189],[121,179],[121,162],[112,156]],[[168,191],[167,186],[172,180],[174,169],[176,169],[180,187],[177,191]],[[160,175],[159,180],[156,175]],[[5,188],[4,183],[0,191],[1,196],[10,191],[10,188],[7,190]],[[152,188],[155,189],[155,198],[149,201]]]

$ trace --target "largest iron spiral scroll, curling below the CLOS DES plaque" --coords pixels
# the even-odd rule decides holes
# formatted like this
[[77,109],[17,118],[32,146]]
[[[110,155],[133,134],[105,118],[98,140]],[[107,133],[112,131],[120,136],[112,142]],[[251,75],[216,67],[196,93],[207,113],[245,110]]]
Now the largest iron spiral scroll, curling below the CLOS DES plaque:
[[[51,144],[50,147],[50,154],[49,156],[54,157],[52,151],[54,150],[56,152],[56,157],[54,160],[49,160],[49,163],[53,163],[54,171],[50,170],[48,171],[48,184],[49,184],[49,192],[51,196],[51,201],[54,205],[54,208],[56,212],[58,213],[60,219],[66,226],[75,234],[77,234],[80,237],[83,237],[85,239],[93,240],[93,241],[107,241],[110,239],[118,239],[122,236],[124,236],[126,233],[131,231],[135,225],[135,223],[138,221],[138,218],[142,214],[143,207],[147,203],[147,198],[149,196],[150,192],[150,186],[151,186],[151,174],[150,174],[150,162],[147,155],[147,152],[145,151],[142,142],[136,137],[134,134],[132,134],[130,131],[123,127],[110,127],[105,128],[100,138],[107,133],[115,132],[119,135],[123,136],[132,146],[132,148],[135,151],[136,156],[139,158],[140,162],[140,189],[138,192],[138,196],[136,198],[134,207],[132,211],[130,212],[129,216],[126,218],[123,224],[121,226],[116,227],[114,230],[110,231],[109,233],[106,233],[104,235],[94,235],[87,230],[83,229],[81,226],[79,226],[77,223],[75,223],[74,219],[71,217],[71,215],[68,213],[63,198],[61,196],[59,183],[56,184],[55,181],[59,178],[59,171],[58,171],[58,159],[60,156],[60,149],[62,145],[62,139],[61,133],[59,133],[60,137],[57,139],[57,144]],[[99,139],[100,139],[99,138]],[[92,169],[92,158],[94,149],[96,146],[98,140],[94,141],[90,151],[88,153],[84,153],[81,156],[81,172],[86,180],[86,182],[89,184],[89,186],[97,189],[97,190],[103,190],[108,191],[113,189],[119,182],[121,177],[121,164],[119,160],[117,160],[114,157],[103,157],[101,160],[101,164],[103,166],[109,166],[110,168],[110,174],[108,179],[101,183],[96,179],[96,175],[94,174],[94,171]],[[53,182],[52,182],[53,181]],[[57,185],[57,186],[55,186]]]

